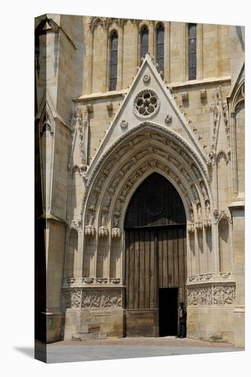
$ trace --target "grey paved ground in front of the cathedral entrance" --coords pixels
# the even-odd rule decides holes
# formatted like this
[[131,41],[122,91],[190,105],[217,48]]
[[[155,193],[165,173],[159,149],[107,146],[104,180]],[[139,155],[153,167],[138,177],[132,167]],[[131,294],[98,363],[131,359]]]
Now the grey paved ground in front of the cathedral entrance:
[[122,338],[101,341],[62,341],[47,345],[47,363],[112,360],[211,352],[241,351],[228,343],[209,343],[195,339]]

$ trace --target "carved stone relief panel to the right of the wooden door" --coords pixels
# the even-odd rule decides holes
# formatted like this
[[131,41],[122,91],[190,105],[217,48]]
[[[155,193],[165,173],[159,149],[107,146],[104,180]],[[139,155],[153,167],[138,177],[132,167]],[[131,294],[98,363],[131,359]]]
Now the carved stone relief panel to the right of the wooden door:
[[187,288],[188,306],[234,306],[235,284],[211,284]]

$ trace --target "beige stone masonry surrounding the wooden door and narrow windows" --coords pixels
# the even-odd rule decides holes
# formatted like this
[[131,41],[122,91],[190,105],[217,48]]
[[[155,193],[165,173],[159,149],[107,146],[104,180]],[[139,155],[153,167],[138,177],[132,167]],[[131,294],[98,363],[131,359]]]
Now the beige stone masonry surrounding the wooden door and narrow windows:
[[[44,19],[36,19],[36,26]],[[140,58],[143,25],[149,29],[148,65]],[[115,292],[115,285],[120,290],[124,284],[121,213],[137,184],[158,171],[176,186],[186,203],[187,288],[190,292],[196,281],[199,300],[189,299],[188,335],[243,345],[243,28],[198,24],[197,79],[188,80],[187,24],[163,23],[163,76],[155,66],[157,25],[158,21],[48,14],[38,27],[36,124],[42,217],[49,219],[45,232],[47,341],[60,336],[101,339],[125,335],[124,307],[107,294]],[[109,91],[113,30],[119,37],[117,89]],[[152,123],[140,125],[139,117],[134,117],[132,108],[139,92],[135,76],[143,64],[165,112],[168,106],[170,111],[176,109],[170,113],[171,123],[165,122],[167,114],[161,107]],[[116,120],[122,107],[123,118]],[[136,127],[139,132],[134,132]],[[126,132],[132,136],[123,143]],[[110,155],[104,153],[110,146],[107,135],[110,145],[121,141]],[[118,216],[119,208],[123,211]],[[212,302],[208,305],[200,295],[204,287],[200,283],[210,279],[206,292]],[[235,300],[226,298],[223,304],[215,304],[213,284],[220,282],[223,287],[224,279],[231,279]],[[96,296],[95,284],[101,289]],[[229,289],[226,284],[225,293]],[[86,298],[86,292],[93,298]],[[219,294],[223,300],[225,293]],[[61,296],[67,297],[62,308]],[[130,313],[128,320],[130,323]],[[147,321],[142,322],[143,327]],[[154,317],[152,324],[157,327]]]

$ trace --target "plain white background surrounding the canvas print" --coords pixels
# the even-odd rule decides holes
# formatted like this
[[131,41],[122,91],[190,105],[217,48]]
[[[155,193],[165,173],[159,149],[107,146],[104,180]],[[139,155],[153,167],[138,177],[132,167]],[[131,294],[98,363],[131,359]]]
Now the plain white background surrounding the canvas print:
[[[250,10],[244,0],[1,2],[2,376],[239,376],[250,372]],[[64,13],[246,25],[246,352],[45,365],[34,343],[34,17]],[[30,352],[29,352],[30,353]],[[248,370],[245,371],[245,369]],[[245,372],[244,372],[245,371]]]

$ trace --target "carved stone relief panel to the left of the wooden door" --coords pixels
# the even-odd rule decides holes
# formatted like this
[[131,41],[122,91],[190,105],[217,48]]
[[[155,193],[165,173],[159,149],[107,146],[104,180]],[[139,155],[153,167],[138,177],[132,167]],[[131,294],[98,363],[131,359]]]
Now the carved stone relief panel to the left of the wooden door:
[[64,292],[62,307],[69,308],[122,308],[121,290],[71,289]]

